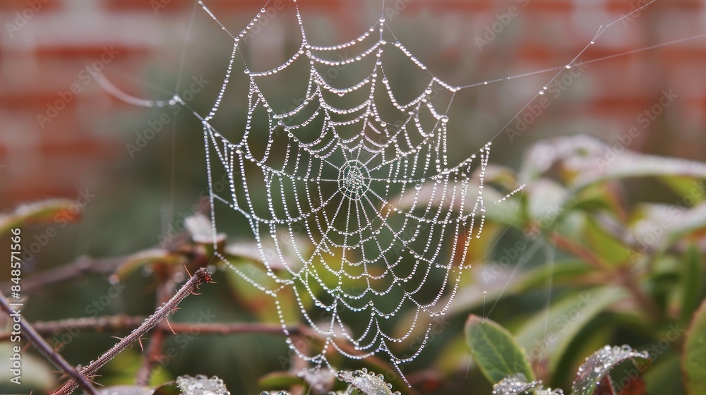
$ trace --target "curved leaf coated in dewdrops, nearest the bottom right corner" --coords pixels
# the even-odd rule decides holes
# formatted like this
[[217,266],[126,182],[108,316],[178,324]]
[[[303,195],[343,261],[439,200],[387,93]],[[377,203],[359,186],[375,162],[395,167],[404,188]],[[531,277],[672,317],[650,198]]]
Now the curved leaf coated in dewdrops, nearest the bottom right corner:
[[576,379],[571,386],[572,395],[592,395],[603,377],[608,375],[617,365],[626,360],[632,360],[638,370],[644,370],[650,364],[647,352],[633,351],[628,346],[604,346],[599,351],[586,358],[586,362],[578,368]]

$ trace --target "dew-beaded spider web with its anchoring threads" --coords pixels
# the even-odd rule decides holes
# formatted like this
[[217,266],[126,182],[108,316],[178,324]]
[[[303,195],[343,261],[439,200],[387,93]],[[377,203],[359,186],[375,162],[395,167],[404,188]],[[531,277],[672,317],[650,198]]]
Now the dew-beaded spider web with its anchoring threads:
[[[199,1],[203,10],[234,39],[229,66],[215,104],[208,116],[199,117],[203,123],[214,244],[216,204],[222,203],[249,222],[267,275],[275,286],[261,284],[232,265],[225,256],[217,255],[240,277],[274,298],[287,344],[300,358],[331,368],[326,356],[329,348],[353,359],[384,353],[402,375],[399,365],[411,362],[421,353],[432,324],[426,327],[424,340],[411,354],[397,356],[391,345],[412,336],[421,315],[435,317],[448,310],[461,274],[469,267],[465,265],[469,243],[472,238],[480,237],[485,220],[484,174],[492,140],[477,154],[450,165],[446,154],[449,120],[446,114],[458,90],[496,81],[460,87],[444,83],[426,71],[426,66],[397,40],[382,14],[378,22],[357,39],[330,47],[310,44],[296,2],[292,0],[301,46],[281,66],[258,72],[245,69],[249,78],[248,121],[242,138],[232,142],[210,121],[220,109],[232,79],[234,61],[241,57],[245,62],[239,52],[241,39],[258,23],[265,8],[239,35],[233,35]],[[590,44],[566,66],[502,80],[555,71],[548,85],[566,68],[602,60],[580,62],[578,58],[606,28],[621,19],[599,28]],[[325,54],[360,47],[363,49],[357,51],[357,56],[337,61],[325,59]],[[426,89],[409,102],[399,102],[385,75],[383,51],[398,51],[414,67],[429,73],[431,80]],[[369,75],[344,88],[333,87],[316,68],[321,65],[348,67],[369,58],[376,58]],[[310,65],[304,101],[290,111],[275,111],[258,80],[285,71],[302,60],[309,61]],[[381,114],[383,111],[378,111],[376,90],[384,90],[401,122],[399,119],[390,122]],[[441,109],[432,97],[440,91],[450,95],[447,106]],[[337,107],[332,103],[335,97],[359,92],[369,95],[357,105]],[[178,96],[174,96],[174,100],[186,105]],[[522,114],[532,100],[517,115]],[[257,111],[265,111],[268,130],[255,130],[253,119]],[[299,121],[292,121],[297,116]],[[321,123],[320,134],[311,141],[300,138],[299,133],[317,120]],[[356,128],[357,133],[349,133],[351,128]],[[267,138],[263,139],[261,133],[268,133]],[[256,138],[266,141],[263,152],[253,149]],[[273,154],[273,147],[278,144],[286,147],[283,158]],[[477,167],[474,180],[472,165]],[[213,166],[220,166],[226,172],[229,196],[215,193]],[[264,183],[266,209],[253,202],[250,194],[253,181]],[[302,235],[306,239],[304,243]],[[294,262],[291,254],[285,253],[285,244],[291,245],[297,257]],[[275,257],[265,245],[273,246]],[[350,283],[355,285],[350,286]],[[436,290],[434,296],[423,300],[429,288]],[[280,294],[285,293],[285,289],[296,297],[306,324],[326,339],[321,350],[305,353],[293,344],[280,304]],[[311,300],[319,315],[307,310],[304,297]],[[381,303],[375,300],[381,298],[388,305],[393,300],[392,307],[378,308]],[[404,334],[389,334],[385,322],[409,307],[416,310],[409,330]],[[352,320],[342,315],[354,315],[352,320],[364,323],[363,329],[354,334],[349,328]],[[357,353],[344,350],[335,340],[349,342]]]

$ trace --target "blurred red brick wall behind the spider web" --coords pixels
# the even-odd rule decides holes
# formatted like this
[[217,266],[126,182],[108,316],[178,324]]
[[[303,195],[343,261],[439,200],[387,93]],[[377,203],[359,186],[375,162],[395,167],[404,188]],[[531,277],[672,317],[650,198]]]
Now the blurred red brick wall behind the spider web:
[[[601,23],[644,3],[387,1],[390,9],[399,10],[411,23],[436,24],[441,42],[434,47],[441,64],[467,63],[467,54],[475,54],[472,59],[479,63],[474,68],[477,74],[449,68],[448,80],[458,84],[532,71],[540,66],[559,66],[578,54]],[[263,3],[207,1],[224,20],[251,16]],[[341,30],[360,32],[373,20],[369,13],[357,12],[359,1],[300,0],[299,4],[308,13],[314,10],[335,20]],[[474,39],[483,37],[484,29],[496,23],[498,14],[508,13],[513,6],[519,10],[522,24],[512,28],[522,30],[503,31],[496,42],[479,51]],[[139,78],[146,65],[167,56],[167,44],[184,39],[184,27],[193,8],[192,1],[184,0],[0,2],[0,209],[42,197],[73,197],[81,187],[77,180],[100,176],[102,164],[124,157],[125,134],[111,133],[102,120],[114,109],[128,105],[106,95],[92,82],[85,67],[94,62],[100,67],[101,63],[109,63],[122,75],[133,73]],[[659,0],[649,11],[636,15],[634,21],[619,24],[606,31],[582,59],[706,32],[706,7],[698,0]],[[510,38],[505,36],[514,41],[508,44],[505,40]],[[551,37],[551,42],[547,37]],[[570,119],[590,114],[601,119],[601,128],[606,128],[603,137],[614,140],[616,133],[625,133],[635,124],[640,111],[659,100],[663,89],[671,87],[680,97],[678,121],[670,126],[669,136],[645,134],[630,148],[706,159],[706,38],[595,63],[592,68],[595,74],[587,88],[588,99],[573,107],[562,107],[563,116]],[[542,78],[546,80],[546,76]],[[508,96],[501,95],[503,87],[494,88],[498,92],[496,99],[508,102],[508,108],[517,111],[535,92],[537,80],[518,79],[510,84],[514,89]],[[72,87],[75,92],[66,93]],[[130,87],[126,86],[126,90]]]

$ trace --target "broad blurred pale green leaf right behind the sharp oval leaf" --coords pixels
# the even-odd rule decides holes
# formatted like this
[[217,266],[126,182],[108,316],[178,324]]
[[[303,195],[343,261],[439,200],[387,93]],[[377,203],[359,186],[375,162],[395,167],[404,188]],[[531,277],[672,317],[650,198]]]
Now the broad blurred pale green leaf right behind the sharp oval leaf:
[[535,314],[517,332],[517,343],[527,348],[533,362],[540,357],[548,360],[549,371],[554,372],[580,330],[607,306],[627,296],[626,291],[616,286],[573,293],[551,305],[549,315]]

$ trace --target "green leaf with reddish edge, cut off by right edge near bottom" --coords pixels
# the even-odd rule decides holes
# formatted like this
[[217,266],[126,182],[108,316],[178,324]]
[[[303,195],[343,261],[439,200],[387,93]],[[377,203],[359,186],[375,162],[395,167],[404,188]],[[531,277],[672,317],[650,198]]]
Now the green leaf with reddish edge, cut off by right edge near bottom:
[[686,334],[681,368],[688,394],[706,394],[706,300],[695,313]]

